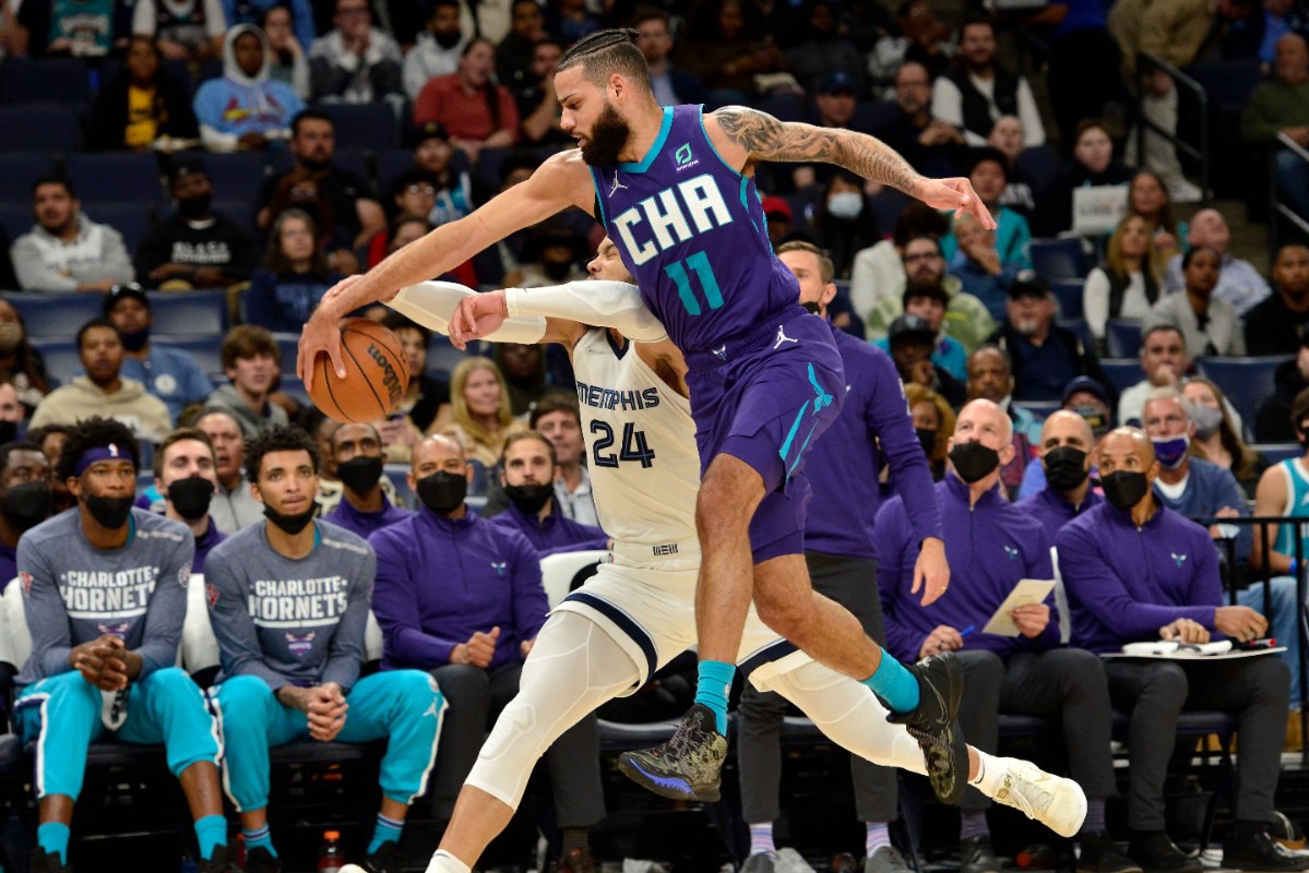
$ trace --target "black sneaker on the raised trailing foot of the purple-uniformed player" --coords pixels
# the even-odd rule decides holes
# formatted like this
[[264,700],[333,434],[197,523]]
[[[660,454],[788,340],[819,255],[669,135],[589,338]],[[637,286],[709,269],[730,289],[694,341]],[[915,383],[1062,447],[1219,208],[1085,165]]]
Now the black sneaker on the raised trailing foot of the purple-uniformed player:
[[[884,652],[882,657],[890,656]],[[918,741],[936,797],[942,804],[958,805],[969,785],[969,746],[954,717],[963,695],[963,668],[953,652],[942,652],[905,669],[918,679],[918,708],[893,712],[886,720],[905,725]]]

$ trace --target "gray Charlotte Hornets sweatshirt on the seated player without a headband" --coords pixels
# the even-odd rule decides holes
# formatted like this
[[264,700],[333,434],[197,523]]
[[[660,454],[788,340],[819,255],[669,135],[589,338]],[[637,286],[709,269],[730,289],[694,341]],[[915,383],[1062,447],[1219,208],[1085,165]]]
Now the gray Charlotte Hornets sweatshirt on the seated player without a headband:
[[262,521],[224,539],[204,560],[221,678],[257,675],[274,691],[327,682],[350,691],[355,685],[377,558],[348,530],[314,525],[318,542],[298,560],[274,550]]

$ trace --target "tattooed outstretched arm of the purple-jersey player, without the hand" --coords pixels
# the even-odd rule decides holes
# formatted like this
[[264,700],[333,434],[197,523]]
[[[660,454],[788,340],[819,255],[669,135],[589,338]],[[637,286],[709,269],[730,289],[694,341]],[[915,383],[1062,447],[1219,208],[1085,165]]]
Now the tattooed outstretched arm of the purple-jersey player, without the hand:
[[783,123],[745,106],[725,106],[713,115],[723,132],[749,152],[751,160],[823,161],[906,194],[912,194],[919,179],[898,152],[867,134]]

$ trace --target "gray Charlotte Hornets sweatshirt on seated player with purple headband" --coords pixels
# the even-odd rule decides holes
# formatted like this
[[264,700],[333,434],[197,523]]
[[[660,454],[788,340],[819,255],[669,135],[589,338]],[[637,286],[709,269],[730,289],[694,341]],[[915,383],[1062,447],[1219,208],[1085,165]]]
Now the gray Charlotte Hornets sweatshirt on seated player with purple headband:
[[18,541],[18,580],[31,631],[20,685],[72,670],[73,647],[105,633],[141,656],[141,675],[177,664],[195,537],[179,522],[132,509],[120,548],[92,546],[76,507]]

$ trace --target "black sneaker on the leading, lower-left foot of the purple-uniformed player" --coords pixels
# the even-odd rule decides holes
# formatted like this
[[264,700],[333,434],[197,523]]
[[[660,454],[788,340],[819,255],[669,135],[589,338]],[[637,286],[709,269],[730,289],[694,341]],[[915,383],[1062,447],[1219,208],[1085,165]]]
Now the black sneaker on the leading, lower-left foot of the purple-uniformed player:
[[719,798],[726,757],[728,738],[719,733],[713,711],[696,703],[682,716],[672,739],[654,749],[624,751],[618,768],[661,797],[712,802]]

